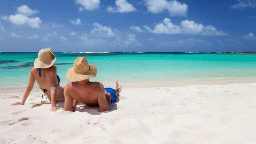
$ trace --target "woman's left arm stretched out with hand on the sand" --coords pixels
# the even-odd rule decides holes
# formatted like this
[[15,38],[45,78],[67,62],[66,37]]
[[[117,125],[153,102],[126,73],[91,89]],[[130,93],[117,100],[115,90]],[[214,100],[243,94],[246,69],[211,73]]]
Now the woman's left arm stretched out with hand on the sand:
[[26,99],[28,98],[28,95],[30,94],[30,92],[32,91],[32,89],[34,87],[34,83],[35,83],[35,78],[34,78],[34,76],[32,74],[32,69],[31,69],[30,73],[29,73],[28,86],[27,86],[26,91],[25,91],[25,93],[23,95],[22,102],[16,102],[16,103],[13,103],[11,105],[24,105]]

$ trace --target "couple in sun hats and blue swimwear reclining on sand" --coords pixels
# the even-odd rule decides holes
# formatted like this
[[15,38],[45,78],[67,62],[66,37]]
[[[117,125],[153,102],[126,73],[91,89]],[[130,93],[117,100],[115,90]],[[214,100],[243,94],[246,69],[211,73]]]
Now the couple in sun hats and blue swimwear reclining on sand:
[[[56,60],[51,48],[42,49],[38,53],[38,58],[34,62],[34,67],[30,70],[29,83],[23,95],[22,102],[11,105],[24,105],[28,95],[33,89],[35,80],[42,89],[43,95],[51,101],[50,111],[59,109],[57,101],[64,101],[64,109],[75,111],[77,103],[86,105],[98,105],[100,111],[111,109],[111,103],[116,102],[122,87],[115,82],[114,88],[105,88],[100,82],[90,82],[89,79],[97,75],[97,67],[88,64],[85,57],[78,57],[73,67],[71,67],[66,77],[72,82],[65,87],[59,85],[60,78],[57,75],[57,68],[53,66]],[[42,100],[41,100],[42,103]]]

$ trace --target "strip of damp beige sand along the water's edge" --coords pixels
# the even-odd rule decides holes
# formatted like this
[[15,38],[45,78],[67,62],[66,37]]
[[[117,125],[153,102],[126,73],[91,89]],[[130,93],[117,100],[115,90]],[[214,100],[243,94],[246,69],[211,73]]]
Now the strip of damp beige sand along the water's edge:
[[[191,86],[191,85],[224,85],[224,84],[244,84],[255,83],[256,77],[239,77],[239,78],[209,78],[209,79],[186,79],[173,81],[151,81],[151,82],[133,82],[122,83],[119,85],[123,88],[156,88],[171,86]],[[113,83],[103,83],[104,87],[112,87]],[[26,87],[0,87],[0,94],[24,93]],[[31,93],[41,92],[38,86],[34,86]]]

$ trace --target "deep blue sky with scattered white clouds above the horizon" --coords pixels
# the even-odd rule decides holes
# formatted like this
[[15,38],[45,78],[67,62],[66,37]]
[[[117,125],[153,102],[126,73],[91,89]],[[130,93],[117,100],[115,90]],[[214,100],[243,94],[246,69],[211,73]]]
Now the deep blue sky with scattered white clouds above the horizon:
[[2,0],[0,51],[256,51],[256,0]]

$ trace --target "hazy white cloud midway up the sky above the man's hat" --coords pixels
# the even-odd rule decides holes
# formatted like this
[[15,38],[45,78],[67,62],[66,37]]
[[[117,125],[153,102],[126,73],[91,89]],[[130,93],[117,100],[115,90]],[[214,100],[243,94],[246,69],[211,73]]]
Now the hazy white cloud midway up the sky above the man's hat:
[[101,24],[95,22],[93,23],[93,30],[91,31],[91,34],[96,36],[103,36],[103,37],[113,37],[116,36],[116,33],[113,32],[113,30],[110,27],[102,26]]

